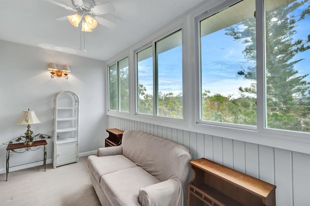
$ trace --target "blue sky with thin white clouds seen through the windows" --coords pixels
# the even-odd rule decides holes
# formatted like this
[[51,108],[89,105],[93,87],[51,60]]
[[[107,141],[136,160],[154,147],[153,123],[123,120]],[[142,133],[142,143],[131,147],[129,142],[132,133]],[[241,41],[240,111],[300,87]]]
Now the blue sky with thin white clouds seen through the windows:
[[[308,6],[307,3],[306,6]],[[304,7],[306,7],[304,6]],[[297,11],[298,12],[298,11]],[[297,34],[294,39],[307,39],[310,25],[310,17],[296,24]],[[245,44],[242,40],[234,41],[232,36],[225,35],[221,29],[202,37],[202,91],[208,89],[211,95],[220,93],[232,98],[240,96],[238,88],[248,87],[255,81],[245,80],[237,76],[237,71],[247,69],[248,66],[255,66],[256,62],[246,61],[242,51]],[[168,93],[178,94],[182,92],[182,59],[179,55],[182,46],[163,52],[159,55],[159,90]],[[294,59],[304,59],[294,65],[298,76],[310,73],[310,51],[300,53]],[[294,60],[293,59],[293,60]],[[153,59],[140,61],[139,77],[140,84],[147,88],[147,93],[153,93]],[[310,76],[305,80],[310,81]]]

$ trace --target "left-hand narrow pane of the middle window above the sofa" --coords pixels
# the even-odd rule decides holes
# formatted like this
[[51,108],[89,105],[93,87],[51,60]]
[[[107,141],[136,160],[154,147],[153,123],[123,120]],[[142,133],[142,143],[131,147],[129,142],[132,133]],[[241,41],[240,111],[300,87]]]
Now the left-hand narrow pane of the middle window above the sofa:
[[153,114],[153,46],[137,53],[138,113]]

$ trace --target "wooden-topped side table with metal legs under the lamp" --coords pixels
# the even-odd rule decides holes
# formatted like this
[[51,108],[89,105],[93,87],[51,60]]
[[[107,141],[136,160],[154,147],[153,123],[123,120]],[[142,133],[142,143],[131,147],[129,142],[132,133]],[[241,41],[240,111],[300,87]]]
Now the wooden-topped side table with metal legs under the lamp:
[[[23,153],[25,151],[34,151],[37,150],[41,147],[39,146],[44,146],[44,159],[43,159],[43,165],[44,165],[44,172],[46,171],[46,164],[47,164],[47,141],[46,140],[38,140],[38,141],[34,141],[32,142],[32,144],[28,144],[25,145],[24,143],[17,143],[17,144],[9,144],[6,147],[6,180],[8,181],[8,173],[9,173],[9,168],[10,168],[10,157],[12,156],[12,154],[10,155],[10,151],[14,152],[14,153]],[[25,150],[23,151],[17,151],[16,149],[22,149],[25,148]],[[41,160],[42,161],[42,160]],[[41,161],[35,161],[35,162],[41,162]],[[29,162],[29,163],[25,163],[25,164],[30,164],[30,163],[34,163],[34,162]],[[19,165],[23,165],[23,164],[19,164]],[[19,165],[15,165],[15,166],[11,166],[11,167],[16,167]]]

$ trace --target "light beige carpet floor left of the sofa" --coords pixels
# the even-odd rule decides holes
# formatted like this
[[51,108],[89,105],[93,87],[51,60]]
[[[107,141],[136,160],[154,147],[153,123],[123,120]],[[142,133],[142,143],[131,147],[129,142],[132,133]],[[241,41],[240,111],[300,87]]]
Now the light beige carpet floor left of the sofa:
[[87,157],[53,169],[52,164],[0,174],[0,206],[100,206]]

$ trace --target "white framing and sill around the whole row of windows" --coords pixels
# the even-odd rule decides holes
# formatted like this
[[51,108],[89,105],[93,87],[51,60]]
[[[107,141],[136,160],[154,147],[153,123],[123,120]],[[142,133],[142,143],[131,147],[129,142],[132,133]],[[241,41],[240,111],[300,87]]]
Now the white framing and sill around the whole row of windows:
[[[170,128],[174,133],[185,132],[184,138],[188,145],[197,144],[199,139],[200,143],[204,142],[204,138],[213,138],[218,136],[228,138],[231,141],[243,141],[244,144],[258,144],[259,147],[275,147],[279,149],[287,149],[291,151],[303,152],[310,154],[310,134],[305,132],[291,132],[277,129],[264,128],[264,113],[265,113],[265,100],[264,100],[264,11],[263,1],[255,0],[256,3],[256,44],[257,44],[257,126],[255,129],[251,128],[236,128],[231,124],[206,124],[205,122],[197,121],[200,115],[200,92],[199,92],[199,61],[197,56],[197,41],[199,38],[197,29],[197,19],[208,13],[216,13],[225,6],[233,5],[239,0],[211,0],[204,2],[199,6],[190,9],[186,14],[179,16],[162,28],[157,29],[154,33],[141,39],[137,44],[134,44],[126,50],[120,52],[114,58],[106,61],[106,65],[112,65],[119,59],[129,57],[129,101],[130,113],[124,114],[119,111],[109,111],[107,107],[107,115],[111,118],[125,124],[126,121],[133,121],[135,129],[139,129],[140,125],[149,128],[154,125],[155,127],[163,128],[164,131]],[[183,113],[184,119],[175,118],[162,118],[156,116],[145,116],[137,114],[136,110],[136,97],[137,97],[137,71],[136,71],[136,52],[143,50],[153,44],[161,36],[169,34],[172,29],[182,25],[182,45],[183,45]],[[155,49],[153,47],[153,49]],[[129,54],[129,55],[128,55]],[[117,58],[117,59],[116,59]],[[155,60],[153,58],[153,60]],[[109,67],[107,67],[109,68]],[[107,70],[109,71],[109,70]],[[107,73],[106,73],[107,74]],[[108,80],[109,80],[109,74]],[[109,91],[109,81],[107,81],[107,90]],[[109,93],[108,93],[109,95]],[[107,97],[108,97],[107,95]],[[109,103],[109,99],[107,99]],[[109,106],[109,104],[107,104]],[[119,119],[118,118],[124,118]],[[123,122],[123,123],[122,123]],[[153,126],[152,126],[153,127]],[[251,126],[250,126],[251,127]],[[125,127],[127,128],[127,127]],[[165,128],[165,129],[164,129]],[[152,130],[152,128],[149,128]],[[150,132],[150,131],[149,131]],[[194,135],[194,138],[192,138]],[[186,144],[187,144],[186,143]],[[220,144],[217,142],[217,144]],[[212,148],[211,148],[212,149]]]

